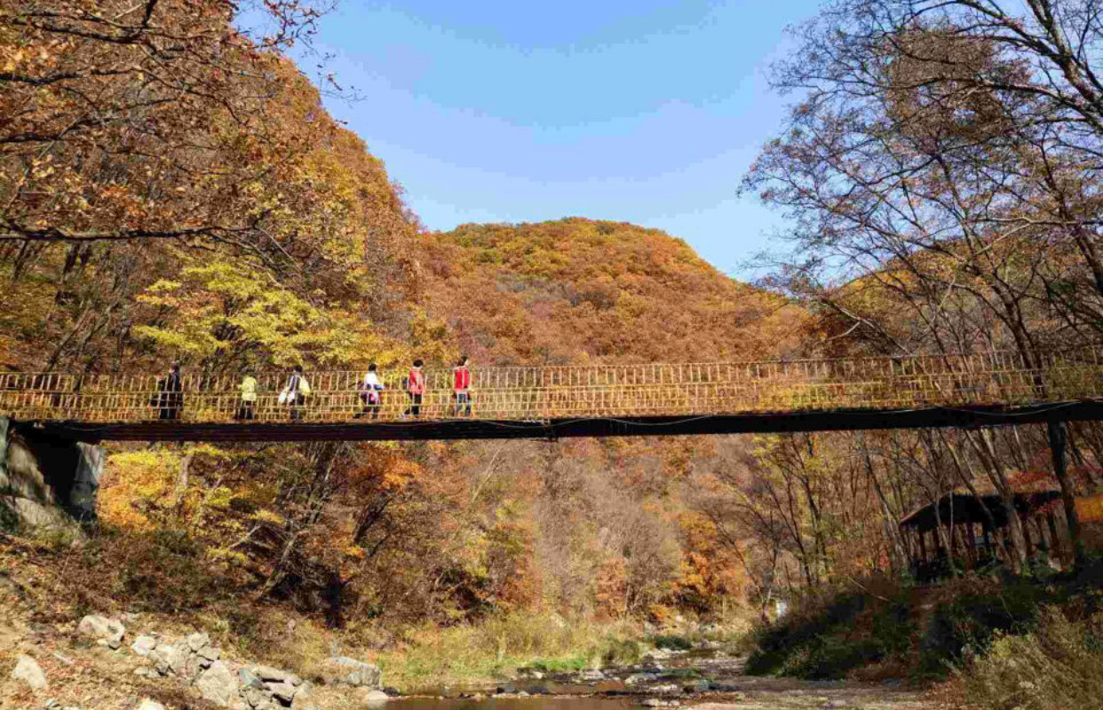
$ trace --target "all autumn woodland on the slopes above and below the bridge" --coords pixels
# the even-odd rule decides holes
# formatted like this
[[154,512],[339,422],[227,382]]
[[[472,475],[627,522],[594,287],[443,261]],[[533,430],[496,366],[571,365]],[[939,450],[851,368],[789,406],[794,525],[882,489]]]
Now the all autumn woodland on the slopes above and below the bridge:
[[[777,69],[810,100],[745,176],[789,217],[767,288],[627,223],[427,230],[325,110],[340,85],[289,58],[310,54],[324,8],[0,0],[2,372],[176,363],[191,381],[236,381],[376,364],[396,383],[415,358],[439,370],[461,354],[478,368],[968,352],[1021,363],[1039,398],[1026,404],[1049,416],[567,442],[113,442],[96,450],[94,519],[49,529],[19,513],[61,509],[53,474],[17,485],[0,466],[0,710],[46,699],[10,677],[26,652],[94,688],[62,702],[132,707],[139,681],[89,680],[105,656],[75,631],[88,612],[203,630],[227,656],[306,678],[342,649],[404,689],[623,665],[656,631],[753,627],[756,673],[959,668],[985,708],[1094,708],[1103,429],[1065,421],[1043,380],[1052,353],[1103,342],[1103,110],[1080,78],[1100,75],[1103,31],[1088,0],[1031,2],[1027,21],[1013,3],[946,0],[930,3],[933,24],[901,4],[927,3],[831,3]],[[238,26],[250,12],[269,31]],[[11,441],[36,428],[15,422]],[[955,505],[983,513],[962,520]],[[1038,686],[1020,682],[1027,666]]]

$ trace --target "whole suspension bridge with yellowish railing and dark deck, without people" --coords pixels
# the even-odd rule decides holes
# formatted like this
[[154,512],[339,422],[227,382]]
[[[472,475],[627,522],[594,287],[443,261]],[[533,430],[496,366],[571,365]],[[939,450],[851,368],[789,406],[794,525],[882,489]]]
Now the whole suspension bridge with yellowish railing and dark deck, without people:
[[[311,394],[281,404],[286,373],[257,376],[243,418],[240,376],[185,373],[167,405],[156,375],[0,373],[0,417],[73,441],[506,439],[982,427],[1103,419],[1103,348],[1027,361],[988,352],[743,363],[471,369],[471,409],[452,372],[429,369],[418,416],[405,369],[365,407],[363,373],[307,372]],[[167,412],[167,409],[171,409]]]

